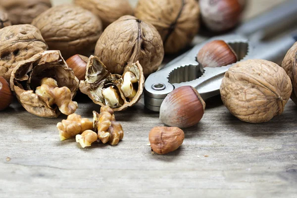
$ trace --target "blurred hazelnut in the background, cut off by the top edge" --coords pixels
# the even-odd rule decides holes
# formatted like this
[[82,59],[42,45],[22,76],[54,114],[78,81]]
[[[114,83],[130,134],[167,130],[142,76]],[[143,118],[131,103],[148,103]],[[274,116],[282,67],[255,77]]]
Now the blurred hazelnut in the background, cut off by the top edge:
[[204,24],[215,32],[235,27],[243,10],[239,0],[199,0],[199,5]]

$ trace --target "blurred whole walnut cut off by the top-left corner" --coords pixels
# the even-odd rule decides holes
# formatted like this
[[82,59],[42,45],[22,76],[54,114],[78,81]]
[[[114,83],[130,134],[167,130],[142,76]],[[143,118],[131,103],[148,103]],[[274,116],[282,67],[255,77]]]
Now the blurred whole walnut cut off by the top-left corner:
[[50,0],[0,0],[13,25],[30,24],[39,14],[51,7]]

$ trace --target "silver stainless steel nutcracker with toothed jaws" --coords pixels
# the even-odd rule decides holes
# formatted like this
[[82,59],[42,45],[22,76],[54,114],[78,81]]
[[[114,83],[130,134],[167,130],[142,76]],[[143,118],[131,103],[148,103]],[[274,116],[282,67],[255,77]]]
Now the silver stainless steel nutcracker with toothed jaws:
[[[224,40],[237,53],[240,61],[266,59],[277,62],[296,42],[297,0],[288,0],[276,8],[238,27],[232,34],[213,37],[175,58],[163,69],[148,76],[145,83],[145,105],[159,111],[162,101],[174,89],[190,85],[203,99],[219,94],[225,72],[233,65],[202,68],[196,55],[204,44]],[[295,30],[294,30],[295,28]],[[297,35],[297,34],[295,34]],[[267,39],[273,37],[273,39]],[[277,37],[277,38],[275,38]]]

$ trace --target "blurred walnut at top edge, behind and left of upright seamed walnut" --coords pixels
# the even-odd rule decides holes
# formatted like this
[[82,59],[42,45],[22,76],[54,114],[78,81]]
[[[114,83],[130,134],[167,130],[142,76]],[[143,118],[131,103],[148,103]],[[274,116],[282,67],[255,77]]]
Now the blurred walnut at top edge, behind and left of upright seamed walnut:
[[129,0],[74,0],[74,3],[99,16],[104,29],[121,16],[133,15]]

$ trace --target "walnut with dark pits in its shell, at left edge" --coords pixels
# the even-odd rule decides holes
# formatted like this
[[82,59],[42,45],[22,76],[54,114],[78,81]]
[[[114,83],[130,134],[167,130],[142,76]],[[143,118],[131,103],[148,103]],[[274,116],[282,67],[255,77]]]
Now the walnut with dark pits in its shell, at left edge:
[[32,25],[13,25],[0,29],[0,76],[9,82],[13,68],[22,60],[47,50],[40,31]]

